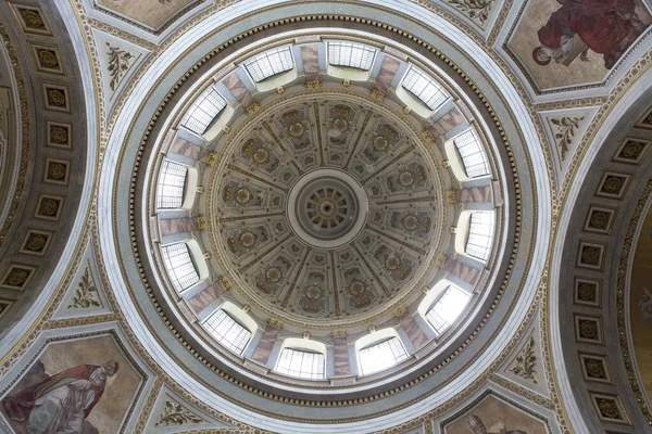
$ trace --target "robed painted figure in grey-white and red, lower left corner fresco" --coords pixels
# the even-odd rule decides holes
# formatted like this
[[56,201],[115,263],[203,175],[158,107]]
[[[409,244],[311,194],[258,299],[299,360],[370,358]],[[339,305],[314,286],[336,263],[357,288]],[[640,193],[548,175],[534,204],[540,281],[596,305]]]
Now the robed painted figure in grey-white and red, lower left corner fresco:
[[84,434],[86,418],[117,369],[115,360],[79,365],[8,396],[2,404],[11,420],[27,420],[29,433]]

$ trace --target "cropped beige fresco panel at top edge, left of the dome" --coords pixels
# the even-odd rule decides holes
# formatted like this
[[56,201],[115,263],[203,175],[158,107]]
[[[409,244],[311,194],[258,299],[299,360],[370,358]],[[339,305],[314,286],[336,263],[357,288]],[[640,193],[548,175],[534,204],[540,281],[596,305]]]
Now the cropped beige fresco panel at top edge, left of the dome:
[[159,28],[196,0],[98,0],[103,9],[126,16],[152,29]]

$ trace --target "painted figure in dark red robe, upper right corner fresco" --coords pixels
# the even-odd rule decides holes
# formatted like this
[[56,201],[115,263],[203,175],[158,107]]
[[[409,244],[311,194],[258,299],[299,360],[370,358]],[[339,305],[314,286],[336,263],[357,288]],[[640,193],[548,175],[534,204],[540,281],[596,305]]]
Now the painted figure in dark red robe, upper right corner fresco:
[[532,58],[539,65],[552,60],[566,66],[577,56],[588,61],[588,50],[604,58],[611,69],[648,27],[636,13],[638,0],[557,0],[562,5],[538,31]]

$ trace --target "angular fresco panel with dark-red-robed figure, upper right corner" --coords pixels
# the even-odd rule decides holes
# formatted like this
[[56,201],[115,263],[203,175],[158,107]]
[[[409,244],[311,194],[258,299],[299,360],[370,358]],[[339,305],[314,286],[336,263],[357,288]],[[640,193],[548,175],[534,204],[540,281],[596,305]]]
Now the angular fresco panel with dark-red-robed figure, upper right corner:
[[539,90],[600,82],[651,24],[643,0],[530,0],[509,48]]

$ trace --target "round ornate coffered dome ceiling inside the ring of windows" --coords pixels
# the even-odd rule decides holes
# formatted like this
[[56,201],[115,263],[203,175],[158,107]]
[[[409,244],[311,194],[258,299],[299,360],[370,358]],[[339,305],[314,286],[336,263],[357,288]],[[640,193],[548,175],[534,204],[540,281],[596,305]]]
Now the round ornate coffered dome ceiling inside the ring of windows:
[[211,241],[248,303],[337,328],[421,292],[450,205],[441,164],[398,114],[352,91],[300,93],[230,133]]

